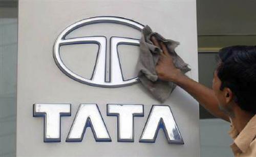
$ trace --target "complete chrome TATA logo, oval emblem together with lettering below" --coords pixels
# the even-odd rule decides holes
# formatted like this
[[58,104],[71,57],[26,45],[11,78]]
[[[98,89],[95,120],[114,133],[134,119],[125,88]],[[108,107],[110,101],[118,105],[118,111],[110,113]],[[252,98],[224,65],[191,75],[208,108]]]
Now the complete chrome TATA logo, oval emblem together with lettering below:
[[[106,64],[106,43],[104,36],[86,36],[77,38],[66,38],[66,36],[75,29],[93,25],[97,23],[114,23],[132,27],[141,31],[143,25],[136,21],[121,17],[101,16],[87,18],[69,26],[61,32],[57,37],[53,57],[58,68],[70,78],[93,86],[101,87],[118,87],[131,85],[138,82],[138,78],[124,80],[122,69],[117,52],[119,44],[139,45],[139,39],[125,38],[112,36],[110,40],[110,63]],[[60,58],[60,47],[70,44],[98,44],[99,50],[95,63],[95,68],[91,79],[81,77],[72,72]],[[109,67],[109,68],[107,68]],[[106,72],[109,72],[106,78]],[[107,104],[106,115],[117,117],[117,142],[134,142],[134,119],[135,117],[144,116],[143,104]],[[33,105],[33,116],[44,118],[44,142],[60,142],[61,141],[61,117],[71,116],[71,104],[52,104],[52,103],[35,103]],[[90,127],[93,132],[95,141],[111,142],[111,134],[104,122],[99,107],[93,103],[83,103],[79,105],[73,124],[70,127],[66,142],[81,142],[84,132]],[[144,124],[144,129],[141,130],[141,143],[154,143],[158,130],[163,129],[168,143],[184,144],[181,133],[175,122],[173,113],[169,106],[152,105],[151,111],[148,114]]]

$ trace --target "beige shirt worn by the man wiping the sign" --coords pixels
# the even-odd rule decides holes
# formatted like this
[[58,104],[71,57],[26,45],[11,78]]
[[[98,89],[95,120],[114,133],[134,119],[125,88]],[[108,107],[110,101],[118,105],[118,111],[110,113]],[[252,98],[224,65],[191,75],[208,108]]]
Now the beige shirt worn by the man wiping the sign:
[[231,123],[229,135],[234,140],[230,145],[234,156],[256,157],[256,115],[250,119],[240,133]]

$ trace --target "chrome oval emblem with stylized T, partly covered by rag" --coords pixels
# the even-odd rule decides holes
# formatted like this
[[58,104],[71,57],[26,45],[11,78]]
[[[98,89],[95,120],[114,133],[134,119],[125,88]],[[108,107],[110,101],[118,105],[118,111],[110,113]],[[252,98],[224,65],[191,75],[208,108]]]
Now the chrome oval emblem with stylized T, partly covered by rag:
[[[53,57],[58,66],[58,68],[70,78],[79,81],[81,83],[85,83],[93,86],[100,87],[119,87],[119,86],[127,86],[138,82],[138,78],[131,78],[124,80],[122,69],[120,65],[120,60],[118,56],[117,47],[119,44],[129,44],[134,46],[139,46],[139,39],[133,38],[125,38],[125,37],[117,37],[112,36],[110,38],[110,61],[109,66],[106,65],[106,43],[108,39],[105,36],[86,36],[86,37],[77,37],[77,38],[69,38],[66,39],[66,36],[86,25],[98,24],[98,23],[115,23],[126,25],[141,31],[143,29],[143,25],[137,23],[136,21],[122,18],[122,17],[114,17],[114,16],[99,16],[99,17],[91,17],[87,19],[83,19],[78,21],[77,23],[69,26],[65,30],[61,32],[61,34],[57,37],[54,48],[53,48]],[[96,63],[94,66],[94,71],[92,77],[90,79],[84,78],[74,72],[72,72],[61,60],[60,58],[60,46],[65,46],[69,44],[85,44],[85,43],[94,43],[98,44],[99,50],[97,54]],[[106,72],[109,72],[107,75]],[[109,77],[109,78],[106,78]]]

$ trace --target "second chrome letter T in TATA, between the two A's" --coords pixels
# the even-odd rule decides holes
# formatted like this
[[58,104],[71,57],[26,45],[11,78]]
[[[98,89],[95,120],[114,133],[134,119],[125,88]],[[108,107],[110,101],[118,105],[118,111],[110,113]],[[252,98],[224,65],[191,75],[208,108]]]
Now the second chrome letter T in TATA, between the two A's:
[[117,116],[118,142],[134,142],[134,117],[143,117],[142,104],[108,104],[108,116]]

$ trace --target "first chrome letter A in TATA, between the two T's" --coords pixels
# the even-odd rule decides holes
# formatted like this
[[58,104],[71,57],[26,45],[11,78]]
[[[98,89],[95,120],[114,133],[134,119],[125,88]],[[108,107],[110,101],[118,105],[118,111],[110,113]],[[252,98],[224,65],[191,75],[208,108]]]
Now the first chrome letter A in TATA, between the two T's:
[[111,142],[97,104],[80,104],[66,142],[81,142],[87,127],[96,141]]

